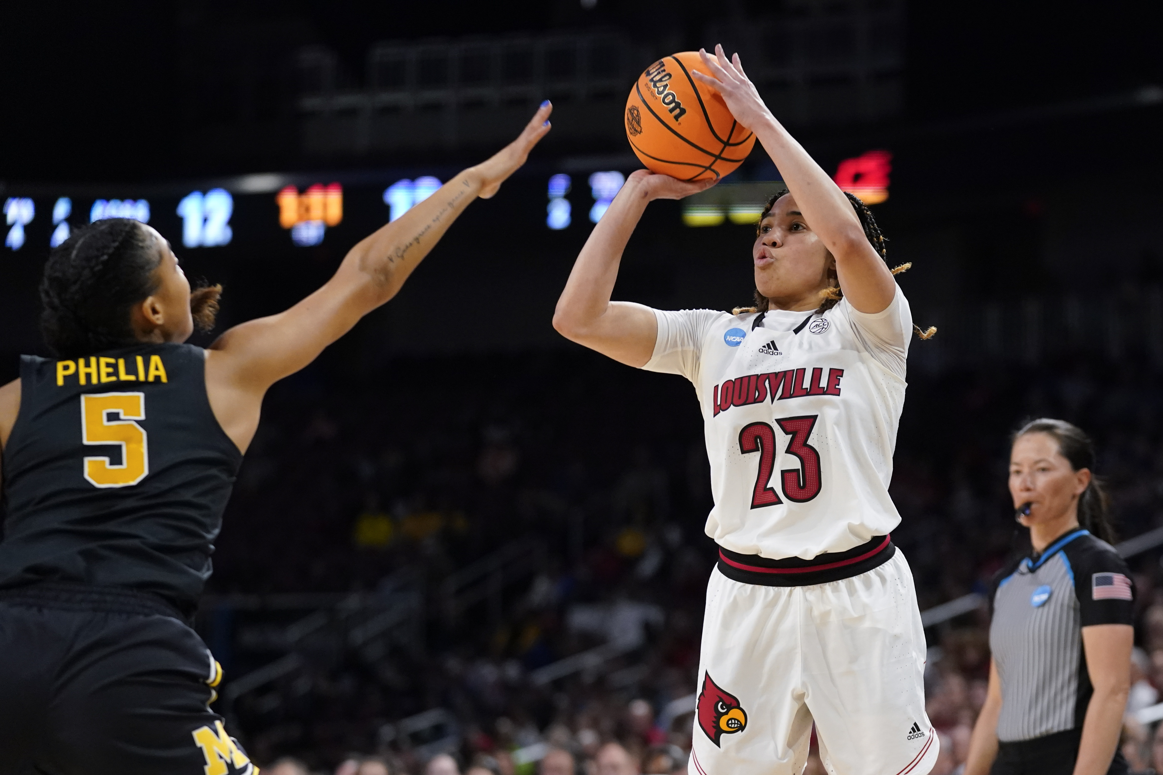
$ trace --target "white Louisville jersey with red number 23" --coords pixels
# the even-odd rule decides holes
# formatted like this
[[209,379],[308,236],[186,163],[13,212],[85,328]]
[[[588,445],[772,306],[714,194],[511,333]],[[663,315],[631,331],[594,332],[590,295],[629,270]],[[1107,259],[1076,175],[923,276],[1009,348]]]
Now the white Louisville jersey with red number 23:
[[715,543],[807,560],[900,523],[889,482],[912,315],[899,288],[875,315],[847,300],[822,315],[654,311],[658,338],[644,368],[694,383]]

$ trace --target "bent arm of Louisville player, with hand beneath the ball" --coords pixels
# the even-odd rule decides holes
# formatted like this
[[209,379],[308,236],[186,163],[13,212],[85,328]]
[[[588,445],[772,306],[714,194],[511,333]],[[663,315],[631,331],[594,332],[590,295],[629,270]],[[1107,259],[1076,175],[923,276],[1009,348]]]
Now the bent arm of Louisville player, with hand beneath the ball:
[[647,204],[656,199],[682,199],[714,181],[685,182],[638,170],[630,174],[609,209],[593,228],[573,263],[554,328],[566,339],[597,350],[629,366],[644,366],[654,353],[658,324],[642,304],[611,301],[622,251]]

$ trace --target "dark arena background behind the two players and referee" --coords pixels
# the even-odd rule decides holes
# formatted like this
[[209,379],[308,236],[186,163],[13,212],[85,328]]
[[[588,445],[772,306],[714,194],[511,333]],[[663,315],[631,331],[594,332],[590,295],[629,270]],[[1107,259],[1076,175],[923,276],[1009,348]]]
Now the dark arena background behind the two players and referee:
[[[914,318],[940,330],[909,351],[891,489],[929,644],[933,772],[964,761],[982,594],[1026,540],[1008,433],[1043,415],[1099,445],[1140,591],[1123,752],[1163,769],[1157,5],[497,5],[0,12],[0,382],[45,354],[38,275],[71,229],[157,228],[224,286],[221,331],[316,288],[555,103],[498,196],[266,399],[198,617],[226,674],[215,708],[255,762],[533,775],[564,747],[587,775],[685,772],[715,557],[698,404],[550,321],[638,167],[621,121],[637,73],[721,42],[825,170],[878,202],[890,263],[913,263]],[[748,302],[756,202],[778,174],[757,148],[706,194],[651,204],[615,299]],[[599,767],[608,740],[629,755]]]

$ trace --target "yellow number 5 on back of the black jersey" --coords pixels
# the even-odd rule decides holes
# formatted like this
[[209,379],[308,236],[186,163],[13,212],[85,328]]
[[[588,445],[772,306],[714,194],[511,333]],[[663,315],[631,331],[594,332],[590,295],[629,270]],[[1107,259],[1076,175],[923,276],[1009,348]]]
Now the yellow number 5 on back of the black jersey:
[[[115,415],[115,419],[109,419]],[[93,487],[130,487],[149,473],[144,393],[98,393],[80,397],[81,440],[86,446],[120,446],[121,462],[93,455],[85,458],[85,479]]]

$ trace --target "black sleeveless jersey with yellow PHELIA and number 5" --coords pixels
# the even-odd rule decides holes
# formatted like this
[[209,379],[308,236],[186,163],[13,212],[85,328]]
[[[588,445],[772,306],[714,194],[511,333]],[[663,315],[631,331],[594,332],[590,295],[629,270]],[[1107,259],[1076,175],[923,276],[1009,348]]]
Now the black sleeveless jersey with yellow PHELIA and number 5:
[[193,609],[242,462],[211,410],[205,365],[185,344],[22,358],[0,589],[80,582]]

